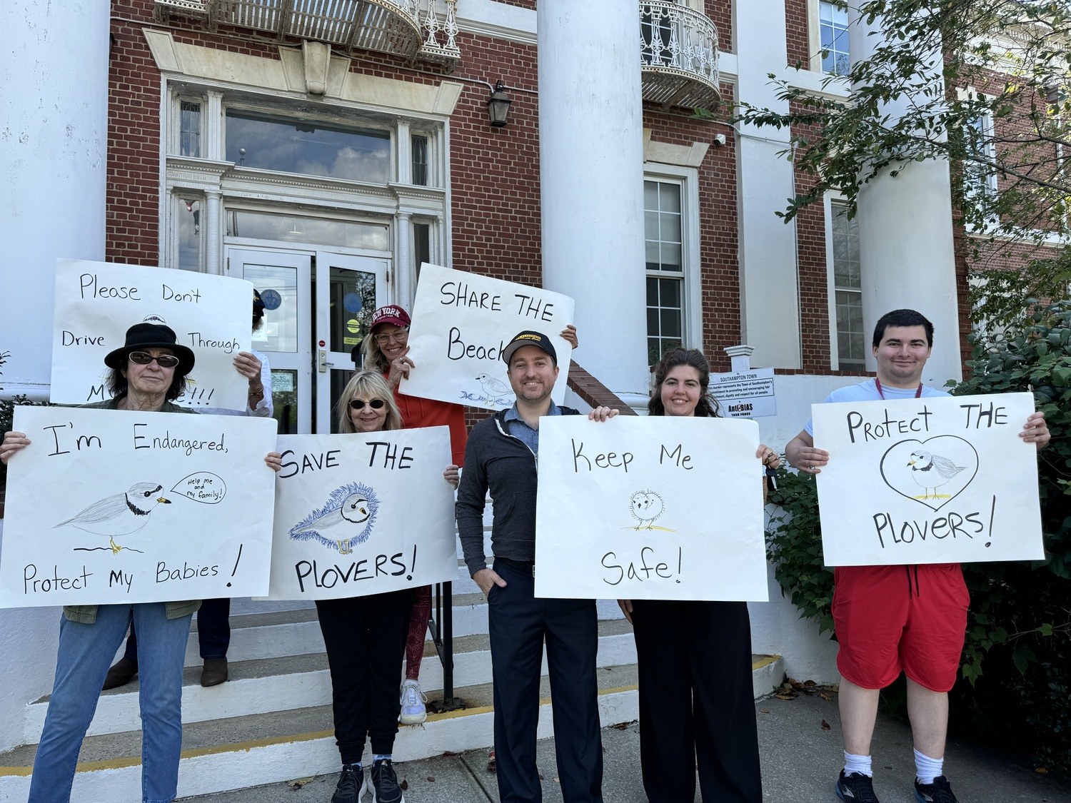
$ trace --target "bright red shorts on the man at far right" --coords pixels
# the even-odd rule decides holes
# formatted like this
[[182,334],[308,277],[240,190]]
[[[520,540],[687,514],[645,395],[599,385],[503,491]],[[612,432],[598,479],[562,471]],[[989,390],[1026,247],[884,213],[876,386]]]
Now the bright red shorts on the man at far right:
[[841,566],[833,578],[841,675],[885,688],[903,669],[932,692],[952,687],[970,602],[959,563]]

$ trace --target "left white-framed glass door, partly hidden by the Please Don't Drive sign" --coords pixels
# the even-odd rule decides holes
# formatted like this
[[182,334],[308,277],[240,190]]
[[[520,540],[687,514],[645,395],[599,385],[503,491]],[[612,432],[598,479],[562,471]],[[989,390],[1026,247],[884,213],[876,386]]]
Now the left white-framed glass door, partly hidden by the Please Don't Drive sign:
[[274,418],[281,435],[311,433],[313,393],[312,256],[231,247],[227,275],[252,282],[265,302],[253,348],[268,357]]

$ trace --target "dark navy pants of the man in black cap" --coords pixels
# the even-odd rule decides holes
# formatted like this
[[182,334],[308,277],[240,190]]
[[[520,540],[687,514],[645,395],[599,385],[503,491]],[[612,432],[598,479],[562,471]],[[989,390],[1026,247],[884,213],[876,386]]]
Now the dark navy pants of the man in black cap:
[[495,680],[495,764],[501,803],[540,803],[536,769],[540,666],[546,640],[558,778],[564,803],[602,801],[602,734],[593,600],[537,600],[531,571],[495,561],[506,588],[487,597]]

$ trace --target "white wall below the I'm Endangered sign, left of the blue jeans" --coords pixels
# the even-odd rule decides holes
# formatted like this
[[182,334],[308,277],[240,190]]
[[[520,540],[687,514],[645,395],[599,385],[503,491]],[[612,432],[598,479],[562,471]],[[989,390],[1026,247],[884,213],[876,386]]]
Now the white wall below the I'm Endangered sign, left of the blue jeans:
[[5,656],[0,662],[0,752],[25,744],[22,723],[29,703],[52,691],[60,616],[60,608],[0,610]]

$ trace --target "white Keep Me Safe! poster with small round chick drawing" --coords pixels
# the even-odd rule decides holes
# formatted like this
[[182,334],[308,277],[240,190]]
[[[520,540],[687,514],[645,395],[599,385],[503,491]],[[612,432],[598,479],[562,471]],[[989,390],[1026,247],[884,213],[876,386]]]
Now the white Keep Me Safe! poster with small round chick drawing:
[[753,421],[540,420],[536,596],[766,601]]

